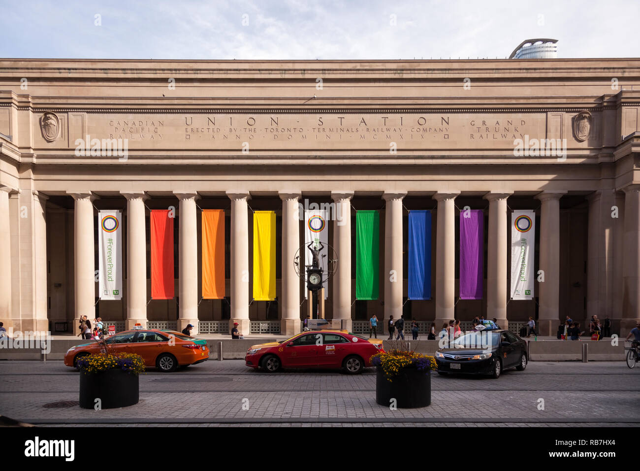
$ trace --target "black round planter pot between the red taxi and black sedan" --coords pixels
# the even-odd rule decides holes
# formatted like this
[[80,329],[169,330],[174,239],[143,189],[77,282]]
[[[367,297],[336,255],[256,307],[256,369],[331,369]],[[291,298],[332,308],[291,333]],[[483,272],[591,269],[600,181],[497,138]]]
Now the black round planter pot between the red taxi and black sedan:
[[[381,406],[396,404],[399,409],[415,409],[431,404],[431,372],[417,368],[403,368],[388,381],[378,367],[376,402]],[[395,401],[393,401],[395,399]]]

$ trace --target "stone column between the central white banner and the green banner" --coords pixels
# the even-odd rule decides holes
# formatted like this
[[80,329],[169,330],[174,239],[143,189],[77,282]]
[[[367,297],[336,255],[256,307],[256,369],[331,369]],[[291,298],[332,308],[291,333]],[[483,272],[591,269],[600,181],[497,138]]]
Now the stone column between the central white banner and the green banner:
[[[353,192],[332,192],[336,217],[333,238],[338,241],[338,271],[333,275],[333,318],[351,330],[351,198]],[[335,242],[333,245],[336,245]],[[310,300],[309,300],[310,301]]]

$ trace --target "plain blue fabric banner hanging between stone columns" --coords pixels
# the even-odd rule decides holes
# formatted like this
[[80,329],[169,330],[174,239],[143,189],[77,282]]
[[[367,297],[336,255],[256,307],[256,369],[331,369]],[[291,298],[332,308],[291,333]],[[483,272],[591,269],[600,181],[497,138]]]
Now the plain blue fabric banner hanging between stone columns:
[[431,299],[431,211],[409,211],[409,299]]

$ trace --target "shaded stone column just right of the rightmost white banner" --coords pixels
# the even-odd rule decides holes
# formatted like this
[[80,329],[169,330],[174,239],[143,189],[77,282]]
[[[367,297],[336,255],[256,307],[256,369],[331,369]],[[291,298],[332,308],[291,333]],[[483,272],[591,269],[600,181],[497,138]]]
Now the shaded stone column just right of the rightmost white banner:
[[556,335],[560,322],[560,198],[564,194],[566,191],[536,195],[542,202],[539,269],[545,272],[545,281],[538,283],[538,335]]

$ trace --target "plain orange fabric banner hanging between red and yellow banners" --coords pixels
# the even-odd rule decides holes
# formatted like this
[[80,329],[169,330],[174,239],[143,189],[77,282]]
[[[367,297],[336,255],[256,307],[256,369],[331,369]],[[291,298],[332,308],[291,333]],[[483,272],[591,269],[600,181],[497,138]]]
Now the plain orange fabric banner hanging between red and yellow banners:
[[225,297],[224,210],[202,210],[202,297]]

